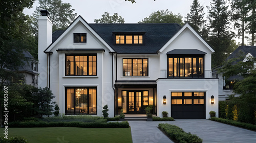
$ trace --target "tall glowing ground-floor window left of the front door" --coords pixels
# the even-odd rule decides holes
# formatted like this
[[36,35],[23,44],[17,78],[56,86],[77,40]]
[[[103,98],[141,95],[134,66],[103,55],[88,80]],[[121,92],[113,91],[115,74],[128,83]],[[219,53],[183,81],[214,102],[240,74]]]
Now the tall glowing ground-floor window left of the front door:
[[97,88],[67,87],[66,114],[97,114]]

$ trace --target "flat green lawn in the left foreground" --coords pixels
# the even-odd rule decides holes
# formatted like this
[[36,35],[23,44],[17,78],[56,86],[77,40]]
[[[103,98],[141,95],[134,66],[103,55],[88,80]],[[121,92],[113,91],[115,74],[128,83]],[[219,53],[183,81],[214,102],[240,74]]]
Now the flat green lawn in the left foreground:
[[8,128],[8,136],[16,135],[24,136],[30,143],[132,142],[131,128]]

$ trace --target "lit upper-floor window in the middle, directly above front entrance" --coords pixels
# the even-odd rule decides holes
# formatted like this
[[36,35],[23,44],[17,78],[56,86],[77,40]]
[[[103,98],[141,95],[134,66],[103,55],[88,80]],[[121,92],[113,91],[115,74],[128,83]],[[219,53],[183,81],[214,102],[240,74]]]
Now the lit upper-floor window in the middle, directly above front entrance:
[[148,76],[148,59],[123,59],[123,76]]

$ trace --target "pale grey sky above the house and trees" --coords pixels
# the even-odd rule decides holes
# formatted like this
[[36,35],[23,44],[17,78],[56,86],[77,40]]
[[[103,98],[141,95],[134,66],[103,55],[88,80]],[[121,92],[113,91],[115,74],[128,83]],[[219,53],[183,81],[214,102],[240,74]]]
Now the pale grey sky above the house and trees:
[[[210,6],[211,0],[199,0],[200,5]],[[193,0],[136,0],[136,3],[125,2],[124,0],[62,0],[63,3],[70,3],[75,13],[81,15],[88,23],[94,23],[94,19],[101,18],[104,12],[110,15],[118,13],[125,20],[124,23],[137,23],[158,10],[166,10],[174,14],[180,13],[184,17],[189,13]],[[33,8],[25,9],[24,13],[32,15],[35,7],[39,6],[38,0]],[[206,16],[207,14],[205,14]]]

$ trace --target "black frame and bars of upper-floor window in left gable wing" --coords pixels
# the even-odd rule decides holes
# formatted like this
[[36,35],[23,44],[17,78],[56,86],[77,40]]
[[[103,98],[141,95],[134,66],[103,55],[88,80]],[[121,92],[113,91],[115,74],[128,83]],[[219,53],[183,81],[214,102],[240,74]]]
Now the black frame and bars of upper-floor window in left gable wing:
[[[74,56],[74,75],[67,75],[67,56]],[[75,56],[87,56],[87,75],[75,75]],[[96,75],[89,75],[89,56],[96,56]],[[97,54],[65,54],[65,76],[97,76]]]

